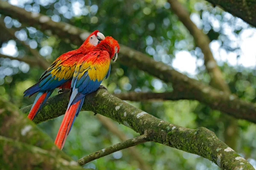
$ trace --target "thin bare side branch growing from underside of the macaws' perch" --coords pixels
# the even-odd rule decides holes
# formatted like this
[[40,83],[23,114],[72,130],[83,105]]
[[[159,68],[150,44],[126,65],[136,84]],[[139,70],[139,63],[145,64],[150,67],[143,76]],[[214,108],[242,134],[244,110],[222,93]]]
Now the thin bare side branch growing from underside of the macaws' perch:
[[90,161],[93,161],[95,159],[102,158],[103,156],[110,155],[111,153],[117,152],[122,149],[126,149],[128,147],[135,146],[137,144],[148,142],[147,137],[145,135],[137,136],[133,139],[128,139],[124,142],[120,142],[118,144],[114,144],[113,146],[106,147],[105,149],[99,150],[97,152],[91,153],[84,158],[81,158],[78,160],[78,163],[80,165],[87,164]]

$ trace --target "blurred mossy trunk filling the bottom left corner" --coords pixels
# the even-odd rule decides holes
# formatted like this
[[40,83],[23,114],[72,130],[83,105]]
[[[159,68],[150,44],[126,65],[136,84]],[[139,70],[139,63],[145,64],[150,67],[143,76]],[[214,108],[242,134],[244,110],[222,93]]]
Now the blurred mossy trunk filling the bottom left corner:
[[0,98],[0,164],[2,169],[82,170],[76,161],[59,150],[18,109]]

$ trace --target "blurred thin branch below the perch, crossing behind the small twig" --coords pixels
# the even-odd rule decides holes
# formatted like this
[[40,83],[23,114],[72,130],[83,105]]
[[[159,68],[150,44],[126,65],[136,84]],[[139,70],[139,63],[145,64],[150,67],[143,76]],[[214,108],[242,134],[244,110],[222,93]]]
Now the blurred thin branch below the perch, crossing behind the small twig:
[[[120,131],[118,129],[118,127],[115,124],[113,124],[113,122],[111,122],[110,119],[108,119],[102,115],[99,115],[99,114],[97,114],[96,117],[99,119],[100,122],[102,122],[102,125],[104,125],[109,131],[111,131],[111,133],[116,135],[121,141],[125,142],[128,140],[125,133]],[[151,170],[152,169],[141,158],[139,151],[135,147],[129,147],[128,150],[131,153],[131,155],[133,156],[133,159],[138,161],[139,167],[141,170]]]

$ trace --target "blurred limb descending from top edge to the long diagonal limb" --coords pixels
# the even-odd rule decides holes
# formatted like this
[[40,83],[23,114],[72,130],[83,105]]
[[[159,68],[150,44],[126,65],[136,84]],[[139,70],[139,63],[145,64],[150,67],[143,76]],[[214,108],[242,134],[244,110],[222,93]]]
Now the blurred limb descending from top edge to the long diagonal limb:
[[210,85],[221,91],[230,93],[230,89],[227,86],[221,70],[213,58],[212,51],[209,48],[210,40],[202,30],[198,29],[197,26],[190,20],[190,14],[177,0],[168,0],[171,4],[171,9],[177,15],[183,25],[189,30],[190,34],[194,37],[196,45],[201,48],[204,54],[204,65],[206,66],[207,72],[211,77]]

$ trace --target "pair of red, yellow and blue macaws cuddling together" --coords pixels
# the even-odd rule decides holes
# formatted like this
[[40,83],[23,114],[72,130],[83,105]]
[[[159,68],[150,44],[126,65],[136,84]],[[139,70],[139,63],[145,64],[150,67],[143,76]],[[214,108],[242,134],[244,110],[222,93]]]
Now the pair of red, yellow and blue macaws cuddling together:
[[64,146],[84,97],[96,91],[103,79],[108,78],[111,59],[115,62],[118,52],[118,42],[96,30],[78,49],[62,54],[52,62],[38,83],[24,92],[24,96],[38,92],[28,115],[33,120],[55,88],[61,88],[61,91],[69,91],[71,88],[70,102],[55,139],[59,149]]

